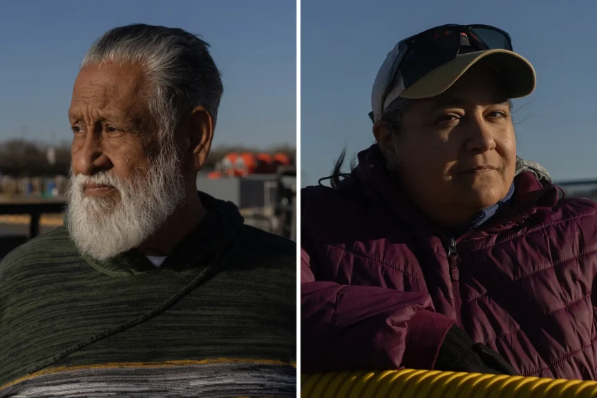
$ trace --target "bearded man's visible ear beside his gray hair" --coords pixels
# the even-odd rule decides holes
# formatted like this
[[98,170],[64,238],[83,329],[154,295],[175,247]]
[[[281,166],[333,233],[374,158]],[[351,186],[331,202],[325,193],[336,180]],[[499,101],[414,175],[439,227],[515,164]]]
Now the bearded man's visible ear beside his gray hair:
[[196,173],[205,164],[211,148],[211,140],[214,139],[214,117],[205,106],[197,106],[191,110],[188,128],[191,164],[193,172]]

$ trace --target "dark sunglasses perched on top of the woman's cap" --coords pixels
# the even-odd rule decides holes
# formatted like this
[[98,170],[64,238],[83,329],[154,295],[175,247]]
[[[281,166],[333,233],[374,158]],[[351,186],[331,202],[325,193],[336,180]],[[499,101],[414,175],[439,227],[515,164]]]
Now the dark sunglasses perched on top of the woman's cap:
[[[381,98],[386,100],[398,75],[409,88],[438,66],[454,59],[457,55],[485,50],[512,51],[512,39],[508,33],[489,25],[444,25],[425,30],[405,40],[406,51],[400,63],[394,68],[390,82]],[[373,113],[369,113],[373,121]]]

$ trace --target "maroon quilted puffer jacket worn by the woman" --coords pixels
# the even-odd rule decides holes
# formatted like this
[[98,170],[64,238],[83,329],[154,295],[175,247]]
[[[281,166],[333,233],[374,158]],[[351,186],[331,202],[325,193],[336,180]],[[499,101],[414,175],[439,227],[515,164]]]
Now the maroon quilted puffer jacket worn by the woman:
[[521,173],[502,214],[444,236],[379,156],[303,189],[303,372],[433,369],[457,323],[521,375],[597,379],[597,204]]

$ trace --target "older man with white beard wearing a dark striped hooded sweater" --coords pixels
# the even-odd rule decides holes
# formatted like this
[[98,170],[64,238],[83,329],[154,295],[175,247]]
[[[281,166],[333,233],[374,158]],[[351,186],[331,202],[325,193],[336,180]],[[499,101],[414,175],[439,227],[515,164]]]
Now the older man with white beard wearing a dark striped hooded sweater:
[[0,264],[0,397],[295,396],[296,247],[196,190],[221,95],[184,30],[88,51],[66,226]]

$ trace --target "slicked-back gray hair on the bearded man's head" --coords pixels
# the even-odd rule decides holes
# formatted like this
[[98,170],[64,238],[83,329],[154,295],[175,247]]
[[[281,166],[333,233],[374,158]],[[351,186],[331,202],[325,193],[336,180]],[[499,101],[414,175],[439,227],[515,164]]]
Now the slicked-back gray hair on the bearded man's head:
[[81,67],[106,61],[141,66],[160,137],[176,129],[182,115],[196,106],[205,106],[215,125],[224,88],[209,44],[196,35],[142,23],[114,28],[95,41]]

